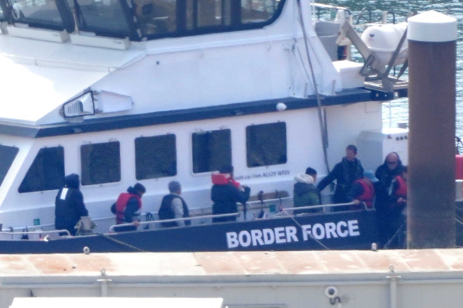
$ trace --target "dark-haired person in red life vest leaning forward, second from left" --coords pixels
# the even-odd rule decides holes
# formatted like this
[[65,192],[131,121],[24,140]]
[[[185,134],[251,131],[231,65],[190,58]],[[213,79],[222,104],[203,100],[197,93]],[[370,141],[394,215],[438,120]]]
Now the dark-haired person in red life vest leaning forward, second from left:
[[111,210],[116,214],[116,224],[131,223],[133,227],[119,227],[117,231],[132,231],[136,230],[140,225],[139,210],[142,208],[141,197],[146,192],[145,187],[137,183],[127,188],[127,192],[123,192],[113,204]]

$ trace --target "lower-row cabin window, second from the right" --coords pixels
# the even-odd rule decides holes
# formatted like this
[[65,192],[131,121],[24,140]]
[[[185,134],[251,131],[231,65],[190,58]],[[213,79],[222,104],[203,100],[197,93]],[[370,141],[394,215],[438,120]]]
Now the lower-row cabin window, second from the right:
[[193,172],[211,172],[232,164],[230,129],[193,133]]

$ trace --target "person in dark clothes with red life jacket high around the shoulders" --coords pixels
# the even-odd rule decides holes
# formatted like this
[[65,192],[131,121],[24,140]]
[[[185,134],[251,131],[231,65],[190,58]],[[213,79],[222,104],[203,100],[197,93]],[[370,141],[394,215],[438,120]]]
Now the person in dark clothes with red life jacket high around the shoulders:
[[[241,186],[233,180],[233,166],[223,166],[219,174],[212,175],[211,199],[214,202],[214,215],[238,212],[237,202],[246,203],[249,199],[250,188]],[[236,221],[236,216],[215,217],[213,222]]]

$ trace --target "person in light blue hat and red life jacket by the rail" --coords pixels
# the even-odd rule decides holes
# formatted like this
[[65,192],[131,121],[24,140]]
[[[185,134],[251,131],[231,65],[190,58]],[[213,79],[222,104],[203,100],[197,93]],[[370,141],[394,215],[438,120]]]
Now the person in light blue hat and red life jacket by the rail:
[[354,205],[350,209],[362,209],[362,202],[367,205],[367,208],[373,207],[373,198],[375,197],[375,184],[379,180],[376,179],[373,170],[363,171],[363,178],[354,181],[354,184],[347,193],[347,199],[353,202]]

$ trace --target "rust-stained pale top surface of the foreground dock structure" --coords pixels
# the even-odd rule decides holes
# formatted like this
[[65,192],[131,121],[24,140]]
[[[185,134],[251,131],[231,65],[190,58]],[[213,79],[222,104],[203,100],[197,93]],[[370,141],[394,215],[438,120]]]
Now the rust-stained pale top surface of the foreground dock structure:
[[[432,273],[463,276],[462,249],[0,255],[0,282],[110,277],[114,282],[308,281]],[[118,278],[119,277],[119,278]],[[138,278],[137,278],[138,277]],[[81,279],[80,279],[81,280]]]

